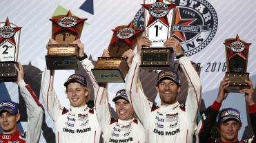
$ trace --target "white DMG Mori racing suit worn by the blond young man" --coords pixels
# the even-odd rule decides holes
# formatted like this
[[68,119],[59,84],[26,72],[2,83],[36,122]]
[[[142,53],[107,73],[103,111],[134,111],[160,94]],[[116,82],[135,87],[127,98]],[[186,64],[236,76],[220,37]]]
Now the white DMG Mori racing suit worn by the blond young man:
[[42,84],[43,103],[55,123],[57,143],[99,142],[101,129],[95,109],[87,105],[66,109],[61,106],[53,88],[53,76],[46,69]]

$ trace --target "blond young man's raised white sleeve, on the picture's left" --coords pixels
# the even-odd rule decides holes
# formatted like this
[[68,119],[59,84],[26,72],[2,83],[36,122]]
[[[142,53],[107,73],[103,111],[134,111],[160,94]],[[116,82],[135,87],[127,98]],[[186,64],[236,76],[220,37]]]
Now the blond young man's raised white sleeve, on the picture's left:
[[55,89],[53,88],[53,78],[54,76],[50,76],[50,70],[46,68],[43,76],[41,94],[46,111],[48,111],[53,122],[56,122],[59,115],[62,113],[61,108],[63,107],[61,107],[58,97],[55,94]]

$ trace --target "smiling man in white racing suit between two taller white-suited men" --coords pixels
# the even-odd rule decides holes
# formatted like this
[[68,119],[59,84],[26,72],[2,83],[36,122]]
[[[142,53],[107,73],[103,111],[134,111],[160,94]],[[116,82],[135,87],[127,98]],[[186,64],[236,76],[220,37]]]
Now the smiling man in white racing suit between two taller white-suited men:
[[[127,57],[128,65],[132,60],[134,53],[132,50],[124,52],[123,56]],[[104,57],[109,57],[108,50],[104,50]],[[145,131],[139,120],[133,118],[134,109],[128,101],[126,90],[119,90],[113,98],[117,111],[118,120],[112,118],[108,107],[108,89],[107,83],[97,83],[91,69],[94,68],[92,62],[86,58],[82,61],[83,67],[88,72],[92,86],[95,91],[95,109],[99,125],[103,131],[104,142],[146,142]]]

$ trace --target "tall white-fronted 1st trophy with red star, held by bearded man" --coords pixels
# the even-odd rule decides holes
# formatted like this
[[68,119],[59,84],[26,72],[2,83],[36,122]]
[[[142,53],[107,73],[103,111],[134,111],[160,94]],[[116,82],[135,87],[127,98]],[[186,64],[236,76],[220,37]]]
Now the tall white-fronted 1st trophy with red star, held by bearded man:
[[164,42],[173,33],[176,4],[167,0],[144,0],[145,32],[152,41],[150,47],[143,47],[141,55],[142,69],[171,69],[174,61],[172,48],[164,47]]

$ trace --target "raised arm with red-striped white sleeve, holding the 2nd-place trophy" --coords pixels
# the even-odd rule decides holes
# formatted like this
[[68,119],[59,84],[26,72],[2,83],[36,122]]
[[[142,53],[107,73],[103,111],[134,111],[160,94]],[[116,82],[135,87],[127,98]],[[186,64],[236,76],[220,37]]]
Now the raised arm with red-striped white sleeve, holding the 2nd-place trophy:
[[43,122],[43,109],[30,85],[25,83],[23,67],[21,63],[18,64],[19,65],[14,65],[18,72],[17,81],[14,83],[19,85],[21,96],[26,102],[28,114],[28,131],[26,133],[26,142],[39,142]]

